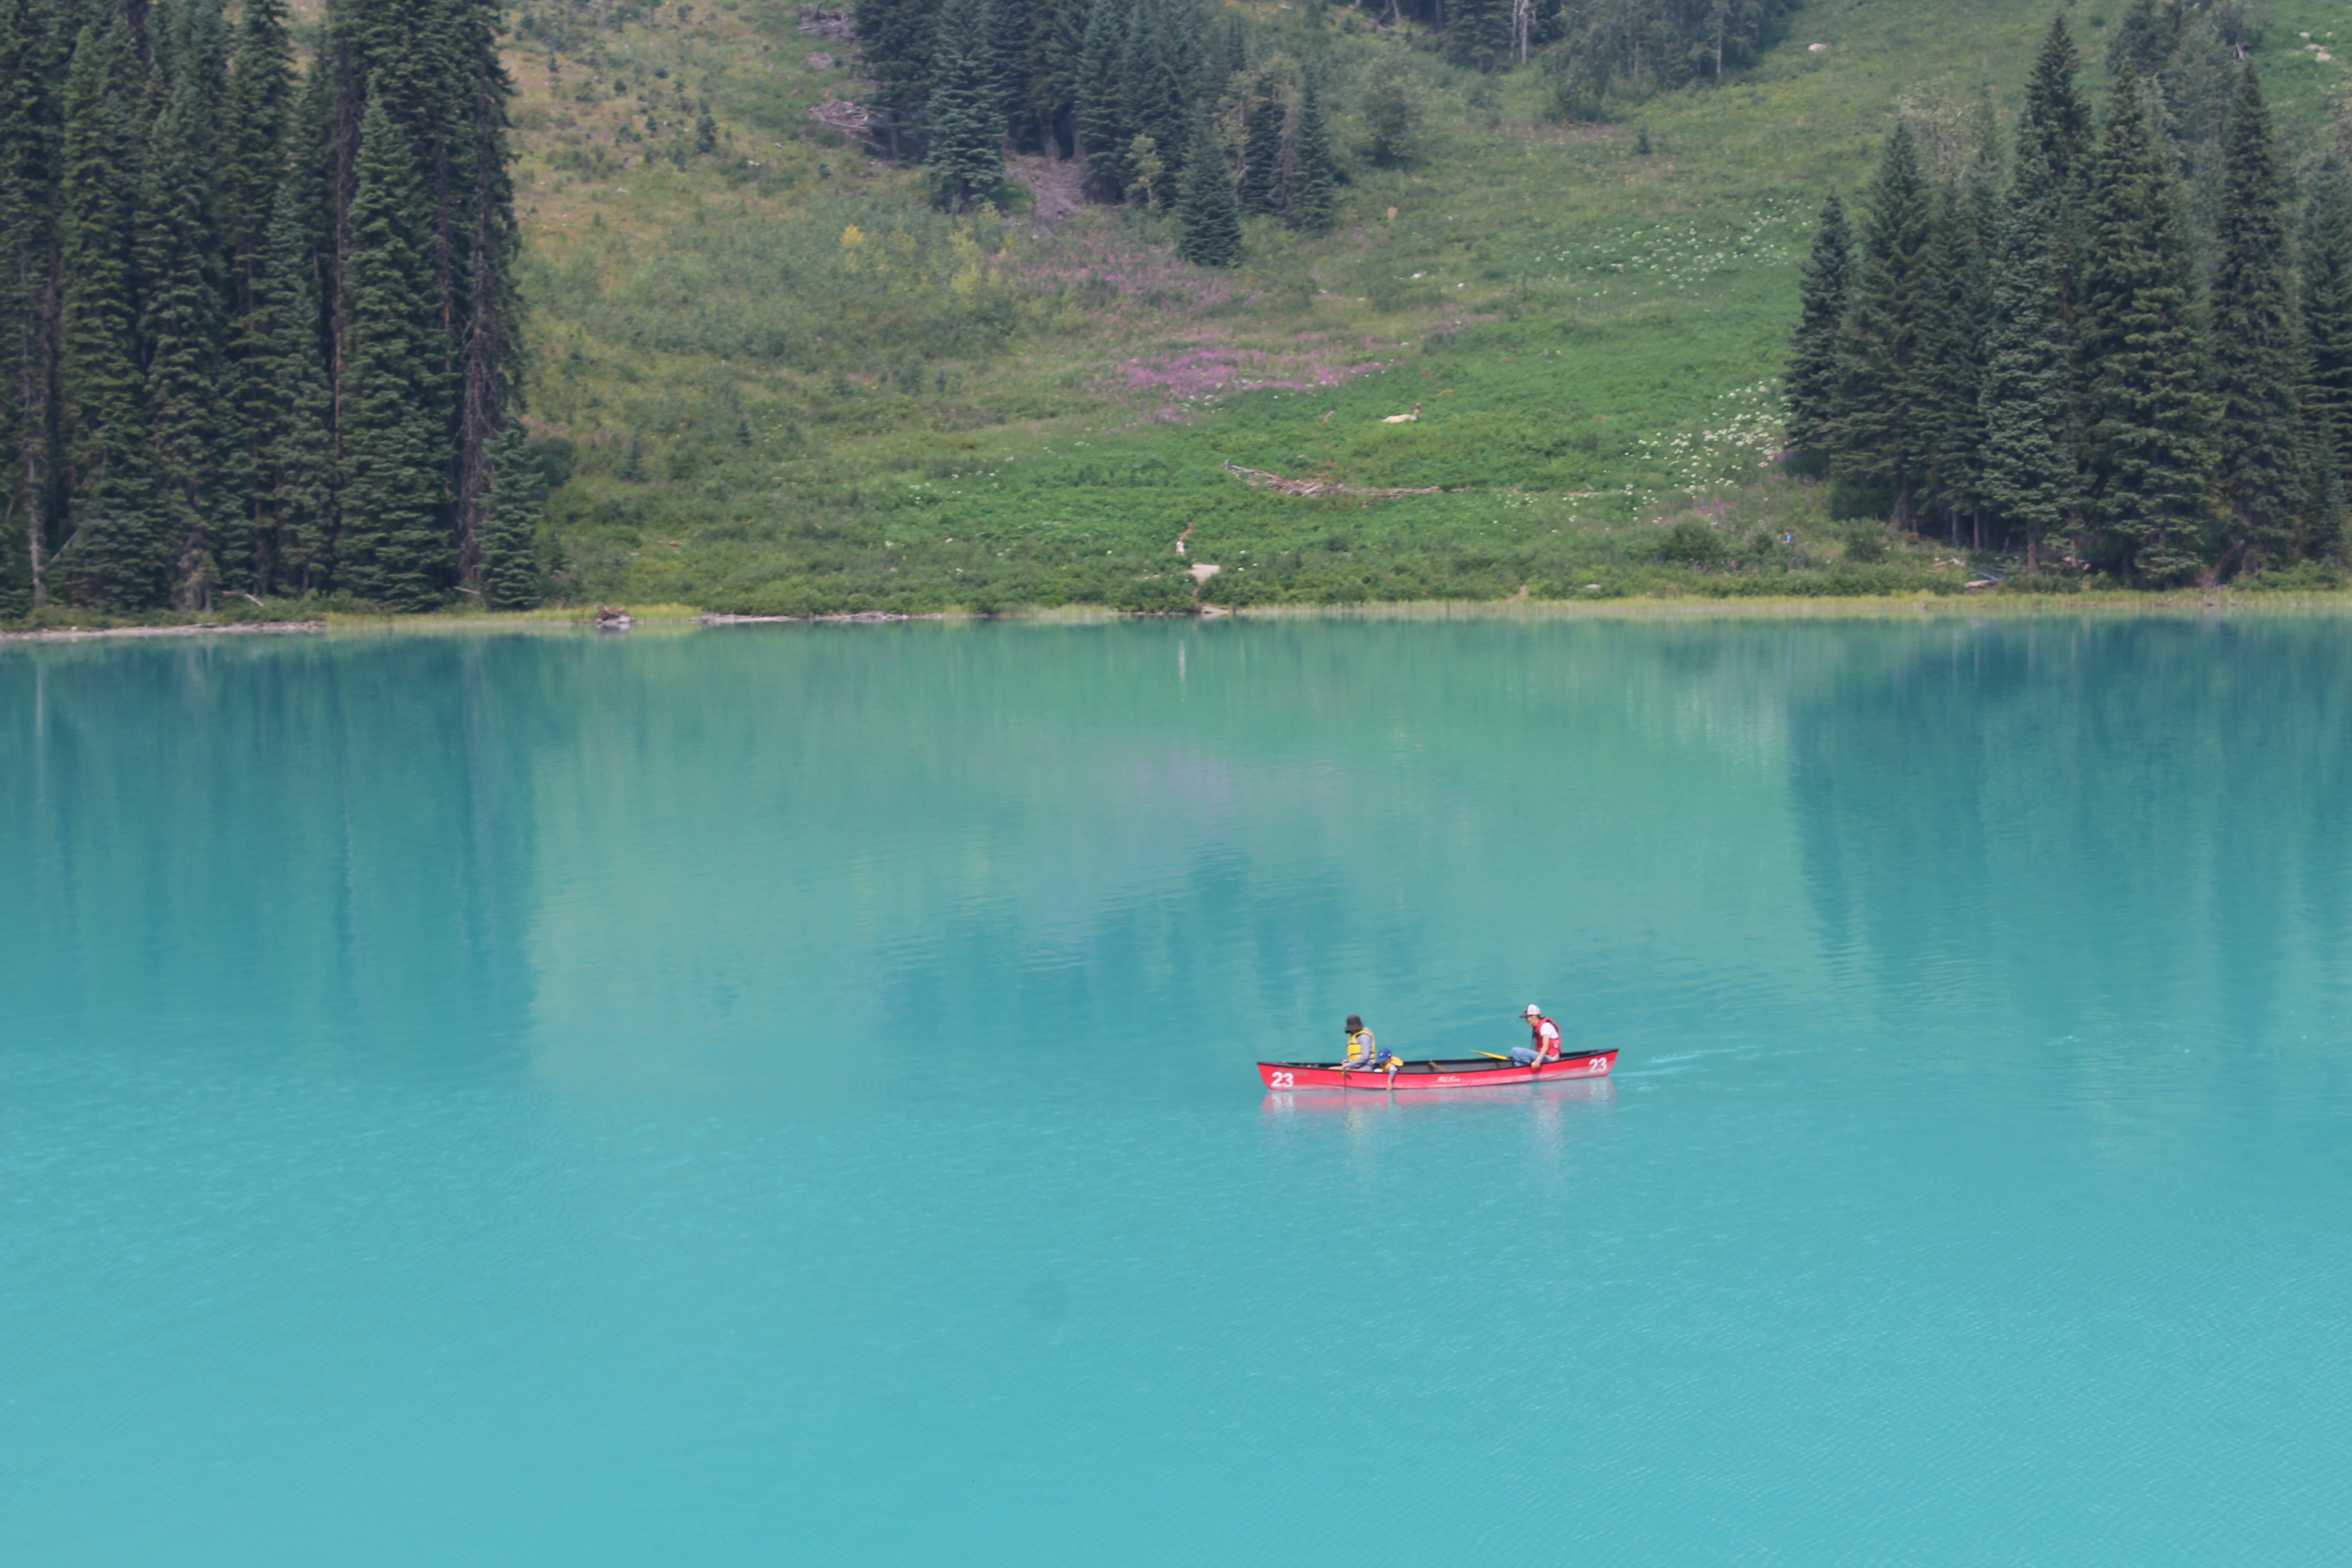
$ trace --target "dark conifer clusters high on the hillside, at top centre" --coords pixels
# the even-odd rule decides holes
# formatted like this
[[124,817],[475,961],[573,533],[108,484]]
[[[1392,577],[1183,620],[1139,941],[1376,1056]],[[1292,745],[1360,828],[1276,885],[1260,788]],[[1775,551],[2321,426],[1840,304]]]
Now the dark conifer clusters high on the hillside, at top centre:
[[[1329,7],[1315,0],[1308,26]],[[1557,113],[1599,113],[1668,87],[1719,80],[1778,35],[1795,0],[1390,0],[1482,73],[1529,61],[1555,78]],[[1240,214],[1327,230],[1338,160],[1324,92],[1249,24],[1200,0],[863,0],[858,42],[891,155],[922,158],[957,209],[997,190],[1004,148],[1075,158],[1098,202],[1176,207],[1181,254],[1242,259]],[[1362,85],[1374,162],[1406,162],[1421,106],[1404,61]],[[1218,129],[1232,146],[1223,158]],[[1185,179],[1216,153],[1218,179]],[[1181,195],[1178,195],[1181,193]]]

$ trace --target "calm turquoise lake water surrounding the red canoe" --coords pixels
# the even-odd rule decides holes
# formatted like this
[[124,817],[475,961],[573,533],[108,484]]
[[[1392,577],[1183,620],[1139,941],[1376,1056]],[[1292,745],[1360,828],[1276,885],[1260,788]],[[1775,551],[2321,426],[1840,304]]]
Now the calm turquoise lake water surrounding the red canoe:
[[2345,621],[31,646],[0,778],[7,1563],[2352,1549]]

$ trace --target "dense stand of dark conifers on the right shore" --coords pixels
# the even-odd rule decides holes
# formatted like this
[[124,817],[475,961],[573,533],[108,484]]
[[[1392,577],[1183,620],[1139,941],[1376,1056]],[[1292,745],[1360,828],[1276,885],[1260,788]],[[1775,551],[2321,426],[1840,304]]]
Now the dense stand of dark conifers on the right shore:
[[2133,0],[2093,103],[2060,16],[2013,139],[1900,120],[1828,197],[1790,447],[1846,510],[2140,588],[2340,557],[2352,183],[2298,200],[2241,26]]

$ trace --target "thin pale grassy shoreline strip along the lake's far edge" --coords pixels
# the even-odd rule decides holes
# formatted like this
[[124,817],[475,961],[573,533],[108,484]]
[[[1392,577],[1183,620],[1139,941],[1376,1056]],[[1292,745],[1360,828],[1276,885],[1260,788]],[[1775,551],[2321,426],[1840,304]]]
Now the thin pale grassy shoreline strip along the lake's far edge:
[[1646,599],[1399,599],[1392,604],[1202,604],[1183,611],[1122,611],[1101,604],[1056,604],[1018,611],[844,611],[830,616],[743,616],[687,604],[623,607],[628,628],[600,628],[595,609],[539,609],[510,616],[350,616],[313,621],[202,621],[174,625],[61,625],[0,628],[7,642],[96,642],[106,637],[289,637],[348,632],[689,632],[729,625],[903,625],[903,623],[1025,623],[1096,625],[1110,621],[1907,621],[1919,616],[2034,618],[2093,614],[2352,614],[2352,592],[2239,595],[2220,590],[2100,592],[2100,595],[1790,595],[1755,599],[1646,597]]

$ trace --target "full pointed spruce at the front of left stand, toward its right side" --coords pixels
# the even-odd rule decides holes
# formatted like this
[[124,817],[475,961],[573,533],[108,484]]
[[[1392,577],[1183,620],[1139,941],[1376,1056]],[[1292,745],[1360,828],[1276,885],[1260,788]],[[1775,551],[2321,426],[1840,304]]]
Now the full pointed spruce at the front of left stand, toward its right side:
[[350,249],[343,256],[341,585],[390,609],[426,609],[454,559],[442,529],[440,336],[414,235],[430,214],[383,103],[360,120]]

